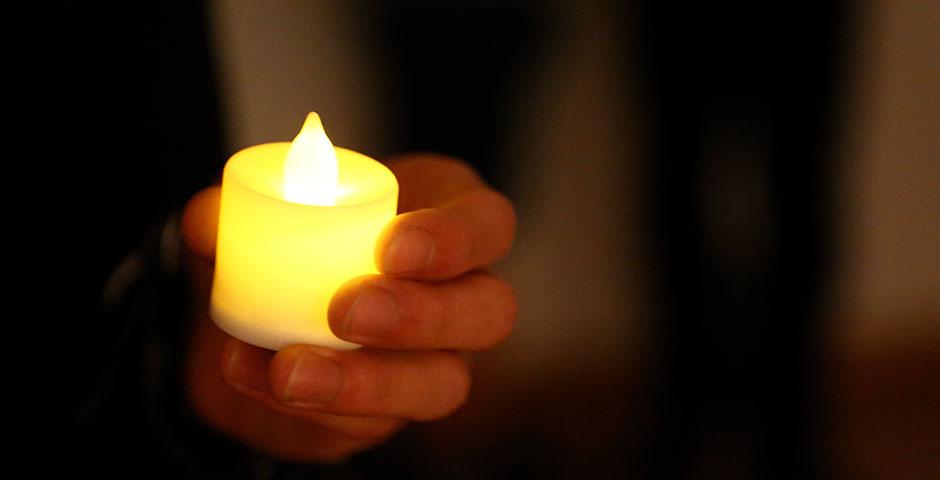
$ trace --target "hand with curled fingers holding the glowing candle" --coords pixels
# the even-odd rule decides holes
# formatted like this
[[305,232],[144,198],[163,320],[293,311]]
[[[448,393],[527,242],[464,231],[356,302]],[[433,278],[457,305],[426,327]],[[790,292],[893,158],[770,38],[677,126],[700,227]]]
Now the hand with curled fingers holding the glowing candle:
[[399,214],[376,246],[381,275],[336,293],[330,328],[363,345],[264,350],[219,330],[208,290],[219,188],[196,194],[183,236],[197,304],[186,379],[210,425],[290,461],[332,463],[388,439],[408,421],[443,418],[471,383],[466,352],[504,340],[515,321],[508,284],[485,269],[509,250],[511,203],[465,164],[431,154],[388,162]]

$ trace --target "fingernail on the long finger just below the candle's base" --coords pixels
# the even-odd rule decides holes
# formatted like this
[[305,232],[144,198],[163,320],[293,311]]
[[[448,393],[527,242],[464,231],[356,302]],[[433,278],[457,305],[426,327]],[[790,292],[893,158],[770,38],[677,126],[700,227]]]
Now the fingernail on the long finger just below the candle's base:
[[332,358],[304,352],[294,360],[282,399],[300,404],[328,402],[339,395],[344,383],[343,372]]

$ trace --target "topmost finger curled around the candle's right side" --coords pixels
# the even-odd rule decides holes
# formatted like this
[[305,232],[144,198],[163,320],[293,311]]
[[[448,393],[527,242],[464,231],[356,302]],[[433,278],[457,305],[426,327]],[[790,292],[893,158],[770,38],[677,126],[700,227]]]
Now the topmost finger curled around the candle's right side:
[[389,162],[402,213],[376,245],[391,276],[444,280],[488,266],[509,252],[516,214],[508,198],[457,160],[431,154]]

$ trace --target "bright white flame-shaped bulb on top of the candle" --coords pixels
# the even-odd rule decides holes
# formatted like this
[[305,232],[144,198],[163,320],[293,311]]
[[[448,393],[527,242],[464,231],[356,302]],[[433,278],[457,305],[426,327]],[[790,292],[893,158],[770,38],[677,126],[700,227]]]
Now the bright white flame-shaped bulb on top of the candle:
[[333,205],[339,162],[316,112],[307,114],[284,162],[284,198],[308,205]]

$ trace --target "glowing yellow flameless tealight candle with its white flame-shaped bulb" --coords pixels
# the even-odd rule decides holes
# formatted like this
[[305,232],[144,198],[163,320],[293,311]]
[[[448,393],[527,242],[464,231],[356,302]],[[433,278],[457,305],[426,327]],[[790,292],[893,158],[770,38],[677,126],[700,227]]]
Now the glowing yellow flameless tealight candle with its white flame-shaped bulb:
[[378,272],[376,240],[397,204],[392,172],[333,147],[316,113],[293,142],[236,153],[222,174],[213,320],[272,350],[356,347],[330,331],[327,308],[344,282]]

